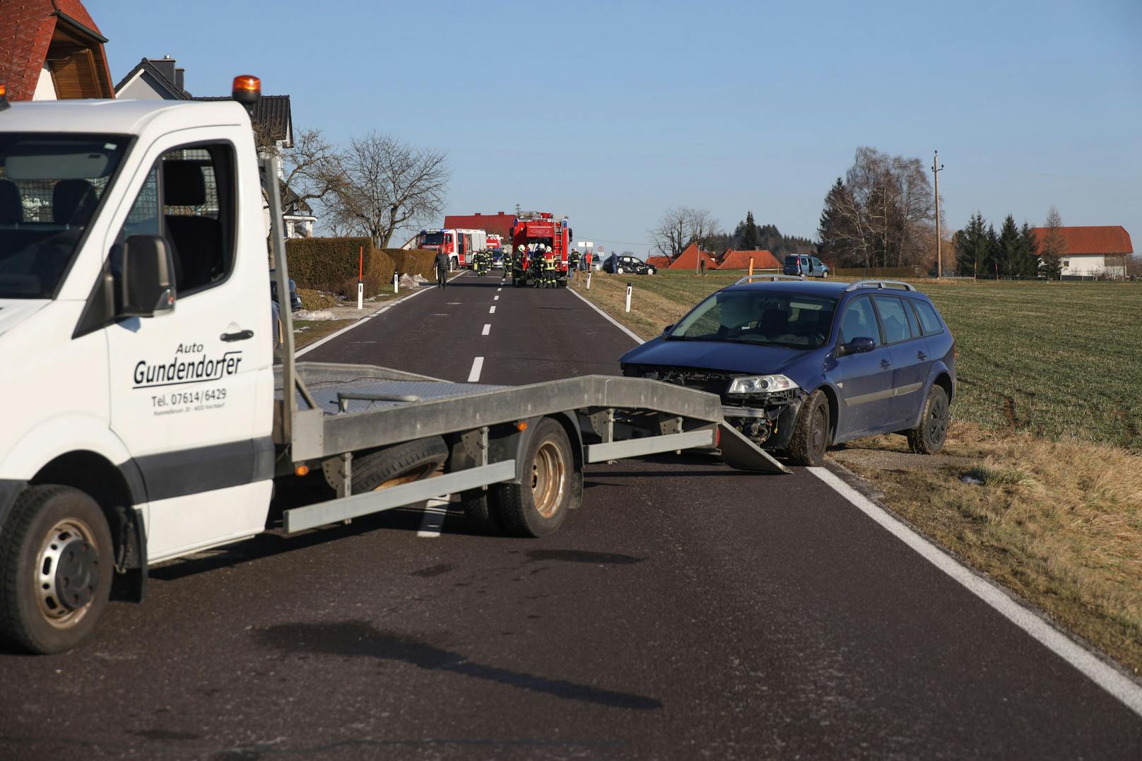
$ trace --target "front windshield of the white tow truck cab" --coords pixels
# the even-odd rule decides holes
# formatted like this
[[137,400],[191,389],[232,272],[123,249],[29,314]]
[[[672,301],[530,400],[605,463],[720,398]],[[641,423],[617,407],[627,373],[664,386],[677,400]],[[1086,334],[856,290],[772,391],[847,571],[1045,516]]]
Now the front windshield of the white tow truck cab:
[[0,298],[53,296],[127,139],[0,133]]

